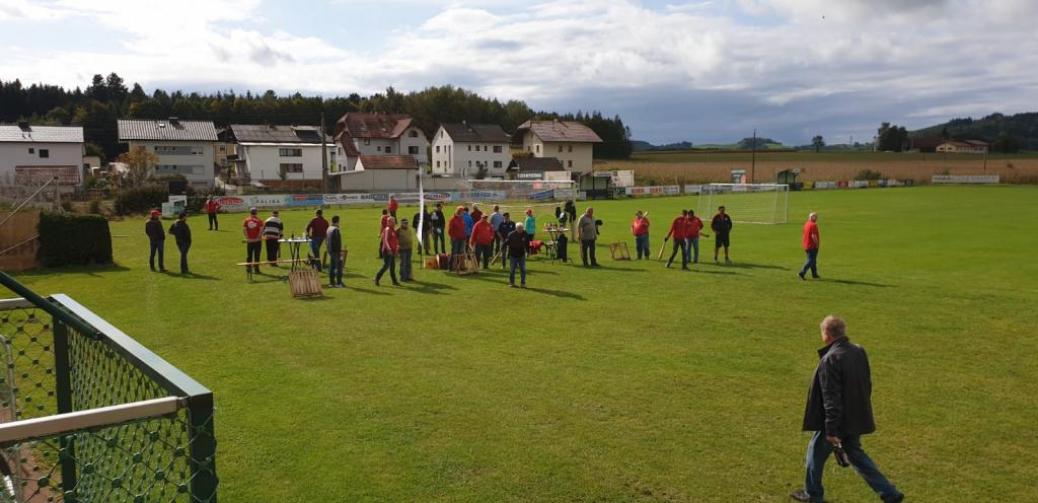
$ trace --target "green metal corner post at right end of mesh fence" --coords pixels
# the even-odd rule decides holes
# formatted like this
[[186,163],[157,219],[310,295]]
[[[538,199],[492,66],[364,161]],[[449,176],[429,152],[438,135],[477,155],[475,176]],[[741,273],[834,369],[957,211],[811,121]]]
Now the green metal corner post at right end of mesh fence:
[[213,394],[188,398],[190,429],[191,500],[216,503],[216,430],[213,427]]

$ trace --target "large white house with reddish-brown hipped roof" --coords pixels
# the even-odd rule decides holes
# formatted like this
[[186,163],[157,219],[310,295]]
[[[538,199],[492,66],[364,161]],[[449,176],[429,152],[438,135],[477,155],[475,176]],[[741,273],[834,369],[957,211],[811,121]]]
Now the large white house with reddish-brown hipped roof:
[[356,168],[360,156],[411,156],[418,166],[429,164],[429,138],[409,115],[348,113],[335,122],[339,165]]

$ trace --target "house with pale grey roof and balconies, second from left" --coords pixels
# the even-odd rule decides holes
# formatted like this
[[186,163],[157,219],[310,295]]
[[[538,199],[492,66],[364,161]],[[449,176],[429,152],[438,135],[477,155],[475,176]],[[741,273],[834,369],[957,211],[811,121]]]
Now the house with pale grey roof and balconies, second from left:
[[216,127],[208,120],[119,120],[119,142],[159,157],[155,175],[182,174],[195,187],[213,187]]

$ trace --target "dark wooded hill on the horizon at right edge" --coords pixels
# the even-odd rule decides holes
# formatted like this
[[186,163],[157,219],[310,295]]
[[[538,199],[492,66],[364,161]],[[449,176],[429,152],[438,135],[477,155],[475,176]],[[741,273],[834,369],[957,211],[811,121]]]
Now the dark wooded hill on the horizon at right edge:
[[962,140],[984,140],[996,151],[1016,149],[1038,150],[1038,112],[986,117],[956,118],[908,133],[911,138],[948,137]]

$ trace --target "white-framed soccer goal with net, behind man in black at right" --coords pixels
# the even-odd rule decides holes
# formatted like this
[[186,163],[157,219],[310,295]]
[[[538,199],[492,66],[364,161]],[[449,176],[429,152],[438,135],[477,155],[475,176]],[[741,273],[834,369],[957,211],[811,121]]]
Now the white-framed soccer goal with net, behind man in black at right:
[[725,206],[733,222],[784,224],[789,221],[786,184],[710,184],[700,192],[699,213],[706,220]]

